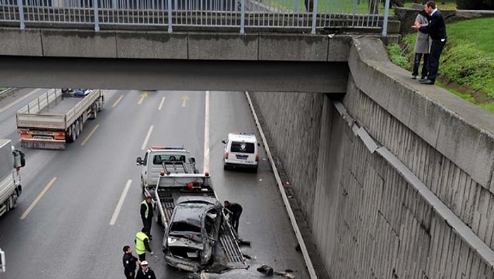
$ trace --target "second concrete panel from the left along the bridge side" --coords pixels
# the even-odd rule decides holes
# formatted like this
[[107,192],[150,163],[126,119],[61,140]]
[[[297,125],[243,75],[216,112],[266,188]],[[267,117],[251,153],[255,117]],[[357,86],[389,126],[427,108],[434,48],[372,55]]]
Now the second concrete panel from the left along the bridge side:
[[116,58],[115,31],[42,30],[43,55]]

